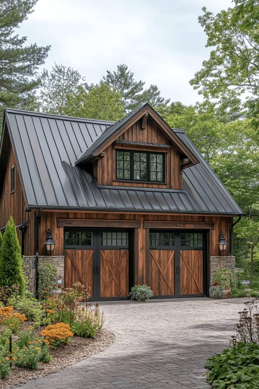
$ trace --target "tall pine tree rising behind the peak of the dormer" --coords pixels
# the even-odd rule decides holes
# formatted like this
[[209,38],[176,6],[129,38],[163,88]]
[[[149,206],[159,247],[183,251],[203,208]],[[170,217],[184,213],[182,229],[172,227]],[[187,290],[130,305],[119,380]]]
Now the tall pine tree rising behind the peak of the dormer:
[[107,75],[103,76],[103,80],[110,85],[110,88],[121,94],[125,114],[133,112],[146,102],[156,108],[169,103],[170,99],[165,100],[160,96],[156,85],[150,85],[143,91],[145,82],[141,80],[137,82],[133,76],[134,73],[130,72],[125,64],[117,65],[117,71],[107,70]]

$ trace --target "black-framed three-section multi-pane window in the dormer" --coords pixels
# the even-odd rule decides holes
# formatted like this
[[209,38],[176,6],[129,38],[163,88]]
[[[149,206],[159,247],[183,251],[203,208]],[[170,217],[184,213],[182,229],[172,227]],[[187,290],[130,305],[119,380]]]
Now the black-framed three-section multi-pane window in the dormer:
[[116,178],[139,181],[165,181],[163,153],[116,151]]

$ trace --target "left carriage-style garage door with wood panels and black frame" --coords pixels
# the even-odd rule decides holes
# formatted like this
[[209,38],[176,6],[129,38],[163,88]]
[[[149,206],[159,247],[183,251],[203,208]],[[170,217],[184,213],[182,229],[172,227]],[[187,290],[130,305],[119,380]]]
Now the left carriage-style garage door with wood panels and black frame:
[[129,296],[133,282],[131,233],[128,230],[64,230],[65,287],[76,281],[91,287],[95,300]]

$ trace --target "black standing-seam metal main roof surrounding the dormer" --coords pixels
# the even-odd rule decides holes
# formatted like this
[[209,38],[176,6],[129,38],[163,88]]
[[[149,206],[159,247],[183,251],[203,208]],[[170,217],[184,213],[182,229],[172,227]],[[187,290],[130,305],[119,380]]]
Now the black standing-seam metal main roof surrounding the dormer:
[[183,170],[183,190],[99,186],[75,161],[103,142],[117,123],[15,109],[5,109],[5,118],[8,130],[1,140],[0,167],[10,136],[31,209],[243,214],[183,130],[172,131],[200,161]]

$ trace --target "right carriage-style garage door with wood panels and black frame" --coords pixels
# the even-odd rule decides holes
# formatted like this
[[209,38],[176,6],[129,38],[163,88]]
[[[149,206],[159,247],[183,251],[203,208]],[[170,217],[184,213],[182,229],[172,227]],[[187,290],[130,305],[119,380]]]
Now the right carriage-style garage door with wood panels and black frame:
[[205,233],[149,230],[149,283],[156,296],[204,295]]

